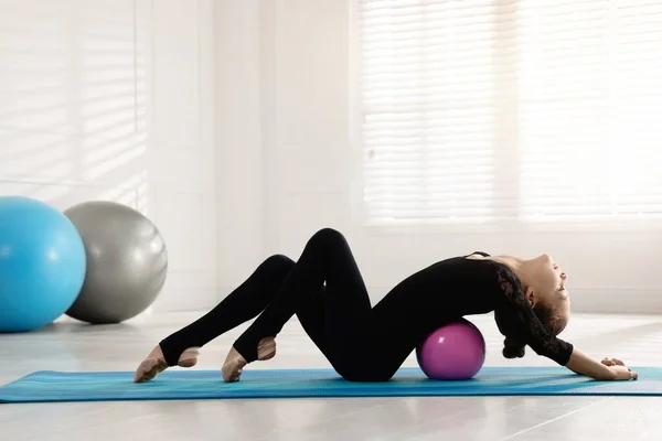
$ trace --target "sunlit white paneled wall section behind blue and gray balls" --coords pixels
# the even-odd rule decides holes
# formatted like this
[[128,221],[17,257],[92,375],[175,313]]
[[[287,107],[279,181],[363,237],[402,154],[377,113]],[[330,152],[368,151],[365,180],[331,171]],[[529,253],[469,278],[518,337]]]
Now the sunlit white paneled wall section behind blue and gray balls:
[[163,234],[154,309],[216,299],[211,0],[0,0],[0,194],[113,200]]

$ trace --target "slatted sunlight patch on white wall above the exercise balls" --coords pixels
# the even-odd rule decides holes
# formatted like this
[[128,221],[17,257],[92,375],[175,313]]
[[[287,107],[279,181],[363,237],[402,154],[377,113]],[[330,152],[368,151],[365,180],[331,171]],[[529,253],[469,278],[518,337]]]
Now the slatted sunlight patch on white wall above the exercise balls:
[[0,0],[0,186],[148,209],[147,53],[134,0]]

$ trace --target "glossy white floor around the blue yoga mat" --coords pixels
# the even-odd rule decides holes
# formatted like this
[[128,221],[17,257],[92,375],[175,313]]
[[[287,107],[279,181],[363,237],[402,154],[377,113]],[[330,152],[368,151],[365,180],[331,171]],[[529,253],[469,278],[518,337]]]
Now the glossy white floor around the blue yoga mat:
[[[33,370],[132,370],[162,336],[196,314],[141,318],[116,326],[68,321],[29,334],[0,335],[0,383]],[[491,316],[482,330],[485,365],[552,365],[530,352],[501,357]],[[202,352],[215,369],[236,330]],[[596,357],[662,366],[662,318],[575,316],[564,337]],[[291,322],[278,356],[249,368],[328,367]],[[405,365],[414,366],[414,357]],[[467,397],[138,401],[0,405],[0,440],[661,440],[661,398]]]

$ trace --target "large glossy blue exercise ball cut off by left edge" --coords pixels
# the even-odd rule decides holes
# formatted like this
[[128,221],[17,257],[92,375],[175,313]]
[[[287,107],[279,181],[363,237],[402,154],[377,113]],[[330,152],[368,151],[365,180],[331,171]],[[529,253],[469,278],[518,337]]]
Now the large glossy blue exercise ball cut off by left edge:
[[85,280],[83,239],[43,202],[0,196],[0,332],[45,326],[76,300]]

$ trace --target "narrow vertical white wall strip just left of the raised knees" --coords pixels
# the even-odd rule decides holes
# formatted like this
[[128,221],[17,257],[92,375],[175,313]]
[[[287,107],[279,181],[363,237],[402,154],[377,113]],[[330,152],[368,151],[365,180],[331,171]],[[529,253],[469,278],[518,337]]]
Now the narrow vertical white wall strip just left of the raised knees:
[[221,298],[264,258],[259,3],[214,3]]

